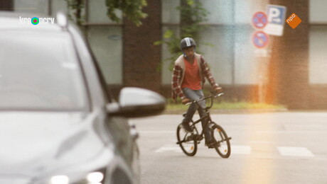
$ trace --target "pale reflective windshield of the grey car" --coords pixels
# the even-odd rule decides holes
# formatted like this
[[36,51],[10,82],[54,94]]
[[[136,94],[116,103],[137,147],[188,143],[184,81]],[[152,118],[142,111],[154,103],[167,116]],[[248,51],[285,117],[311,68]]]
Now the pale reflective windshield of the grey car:
[[1,110],[82,110],[85,88],[70,36],[0,31]]

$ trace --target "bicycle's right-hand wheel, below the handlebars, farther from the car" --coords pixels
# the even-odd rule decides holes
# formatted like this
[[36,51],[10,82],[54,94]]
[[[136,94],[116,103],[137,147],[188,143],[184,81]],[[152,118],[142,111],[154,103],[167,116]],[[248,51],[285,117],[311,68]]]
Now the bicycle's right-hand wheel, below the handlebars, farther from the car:
[[230,137],[227,137],[223,127],[220,127],[213,122],[213,127],[211,127],[211,136],[215,141],[215,150],[218,152],[218,154],[225,159],[230,157]]

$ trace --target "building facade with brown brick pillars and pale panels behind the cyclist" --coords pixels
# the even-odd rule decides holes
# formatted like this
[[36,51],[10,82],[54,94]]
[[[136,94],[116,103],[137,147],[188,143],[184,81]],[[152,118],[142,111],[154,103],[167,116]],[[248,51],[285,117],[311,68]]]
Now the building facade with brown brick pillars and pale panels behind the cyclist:
[[[208,28],[196,40],[198,50],[226,98],[280,103],[291,109],[327,108],[327,1],[200,2],[210,14],[203,23]],[[170,55],[166,45],[154,42],[163,39],[168,29],[180,32],[180,4],[180,0],[148,0],[144,12],[149,16],[136,27],[126,18],[122,23],[110,21],[104,0],[85,0],[82,27],[114,94],[123,86],[137,86],[170,96],[171,71],[166,61]],[[252,42],[256,31],[252,16],[266,11],[268,4],[286,6],[286,17],[296,13],[302,22],[295,29],[285,23],[283,35],[269,35],[262,51]],[[0,9],[49,16],[57,11],[71,13],[64,0],[6,0]]]

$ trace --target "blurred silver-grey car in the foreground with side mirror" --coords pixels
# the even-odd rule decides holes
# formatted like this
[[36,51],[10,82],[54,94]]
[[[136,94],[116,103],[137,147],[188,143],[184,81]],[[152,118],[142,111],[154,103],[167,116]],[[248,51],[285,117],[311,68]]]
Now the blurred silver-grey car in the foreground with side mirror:
[[123,88],[116,103],[63,14],[26,17],[0,13],[0,183],[139,183],[127,117],[160,113],[164,98]]

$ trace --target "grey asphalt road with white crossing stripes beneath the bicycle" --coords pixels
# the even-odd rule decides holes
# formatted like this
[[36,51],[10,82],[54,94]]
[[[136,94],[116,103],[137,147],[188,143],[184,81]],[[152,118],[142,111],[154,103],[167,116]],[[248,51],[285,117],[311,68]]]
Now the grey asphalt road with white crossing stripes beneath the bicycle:
[[131,120],[139,131],[141,183],[327,183],[327,113],[212,115],[232,137],[221,158],[202,141],[195,156],[176,144],[181,115]]

